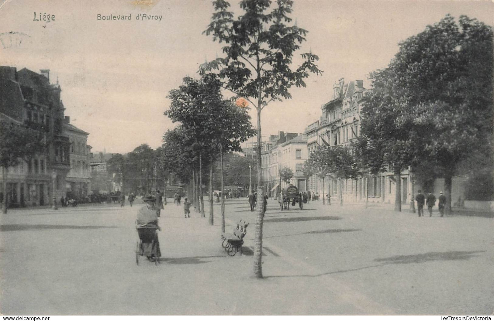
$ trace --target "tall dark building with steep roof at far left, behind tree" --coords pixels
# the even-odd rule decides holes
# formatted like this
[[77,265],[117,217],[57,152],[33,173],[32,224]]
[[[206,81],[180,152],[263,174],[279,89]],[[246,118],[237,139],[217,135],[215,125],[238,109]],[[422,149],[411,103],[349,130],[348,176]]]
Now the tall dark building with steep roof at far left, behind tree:
[[[52,204],[65,196],[70,170],[70,141],[63,132],[64,111],[58,83],[51,84],[49,70],[0,67],[0,113],[41,131],[48,148],[27,163],[9,168],[6,177],[9,207]],[[3,183],[3,182],[2,182]],[[3,184],[0,184],[3,186]]]

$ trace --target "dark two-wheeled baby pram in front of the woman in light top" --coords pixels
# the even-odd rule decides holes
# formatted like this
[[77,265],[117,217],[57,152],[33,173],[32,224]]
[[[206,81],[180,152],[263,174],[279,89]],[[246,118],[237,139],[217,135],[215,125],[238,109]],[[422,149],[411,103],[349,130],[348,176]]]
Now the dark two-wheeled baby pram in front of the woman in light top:
[[156,265],[160,262],[161,251],[160,241],[158,241],[158,224],[155,222],[140,223],[135,221],[135,228],[139,234],[137,249],[135,251],[135,263],[139,265],[139,256],[146,256],[149,261],[154,261]]

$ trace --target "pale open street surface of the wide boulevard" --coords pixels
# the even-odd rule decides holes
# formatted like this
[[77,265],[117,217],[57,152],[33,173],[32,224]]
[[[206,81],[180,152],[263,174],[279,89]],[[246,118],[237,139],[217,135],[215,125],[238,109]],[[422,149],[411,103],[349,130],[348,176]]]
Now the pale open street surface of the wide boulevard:
[[[161,264],[141,257],[136,201],[9,210],[0,218],[3,315],[491,315],[494,220],[418,217],[369,204],[279,209],[264,218],[263,280],[251,278],[255,212],[226,201],[226,232],[250,222],[245,255],[168,202]],[[427,214],[427,213],[426,213]]]

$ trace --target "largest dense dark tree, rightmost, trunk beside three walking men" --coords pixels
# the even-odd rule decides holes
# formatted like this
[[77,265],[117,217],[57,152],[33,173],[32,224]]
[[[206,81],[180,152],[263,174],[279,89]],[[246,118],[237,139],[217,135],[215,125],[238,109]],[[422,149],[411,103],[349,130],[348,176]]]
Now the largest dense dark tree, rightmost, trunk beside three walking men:
[[[466,16],[456,23],[447,15],[400,43],[388,68],[372,75],[363,133],[388,131],[384,149],[395,163],[437,163],[445,178],[447,214],[458,164],[478,150],[492,153],[493,47],[492,27]],[[376,129],[386,124],[375,122],[377,117],[394,121]]]

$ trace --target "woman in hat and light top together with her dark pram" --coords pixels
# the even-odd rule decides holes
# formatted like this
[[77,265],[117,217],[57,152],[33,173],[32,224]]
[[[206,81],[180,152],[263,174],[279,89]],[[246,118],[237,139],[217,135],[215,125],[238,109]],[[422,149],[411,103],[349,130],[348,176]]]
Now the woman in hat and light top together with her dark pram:
[[146,206],[139,209],[135,228],[139,234],[139,242],[135,252],[135,261],[139,264],[139,256],[146,256],[156,264],[160,262],[160,241],[158,241],[158,209],[155,206],[156,198],[148,196],[142,199]]

